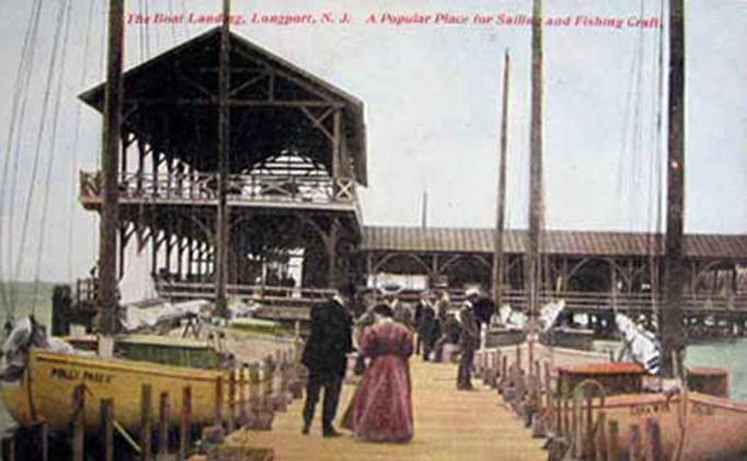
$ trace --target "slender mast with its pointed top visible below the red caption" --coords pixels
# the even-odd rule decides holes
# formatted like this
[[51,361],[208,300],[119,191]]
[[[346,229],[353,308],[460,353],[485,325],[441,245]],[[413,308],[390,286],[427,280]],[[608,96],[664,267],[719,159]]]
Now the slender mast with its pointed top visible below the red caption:
[[506,145],[508,137],[508,70],[510,58],[506,50],[503,65],[503,103],[501,106],[501,153],[498,159],[498,210],[495,223],[495,242],[493,253],[493,299],[501,309],[503,304],[503,233],[506,219]]

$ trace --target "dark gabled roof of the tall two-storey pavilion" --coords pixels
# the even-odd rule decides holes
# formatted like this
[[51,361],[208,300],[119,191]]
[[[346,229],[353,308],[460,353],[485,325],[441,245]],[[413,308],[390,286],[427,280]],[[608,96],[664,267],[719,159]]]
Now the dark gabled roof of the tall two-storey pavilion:
[[[332,170],[340,111],[342,169],[367,184],[364,105],[345,91],[231,33],[230,170],[297,152]],[[220,28],[124,73],[123,130],[198,171],[217,170]],[[104,84],[80,96],[102,111]]]

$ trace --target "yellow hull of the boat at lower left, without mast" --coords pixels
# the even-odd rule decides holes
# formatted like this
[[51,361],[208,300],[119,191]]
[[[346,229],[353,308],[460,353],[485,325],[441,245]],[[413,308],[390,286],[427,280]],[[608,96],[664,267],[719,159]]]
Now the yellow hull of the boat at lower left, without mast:
[[85,389],[85,428],[97,430],[100,401],[114,400],[115,420],[129,431],[140,426],[140,390],[152,389],[152,408],[169,393],[172,427],[179,423],[182,394],[192,388],[192,423],[207,425],[215,415],[216,388],[223,371],[174,367],[125,359],[101,359],[31,349],[27,366],[18,382],[3,382],[2,399],[11,416],[22,426],[46,422],[51,430],[68,431],[73,414],[73,392]]

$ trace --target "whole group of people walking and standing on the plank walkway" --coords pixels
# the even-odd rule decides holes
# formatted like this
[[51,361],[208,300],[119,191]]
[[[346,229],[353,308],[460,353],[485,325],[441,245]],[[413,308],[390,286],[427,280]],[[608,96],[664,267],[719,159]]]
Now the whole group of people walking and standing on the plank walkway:
[[309,369],[302,433],[309,434],[323,391],[322,435],[341,435],[333,420],[347,354],[355,350],[355,344],[363,357],[359,361],[363,378],[347,405],[342,427],[365,440],[409,441],[414,429],[409,365],[413,353],[422,351],[426,361],[432,358],[438,361],[446,344],[458,343],[461,357],[457,389],[472,389],[471,367],[480,342],[480,323],[485,320],[479,291],[468,290],[458,315],[450,311],[448,295],[443,292],[440,297],[424,295],[414,309],[397,297],[384,296],[357,321],[347,309],[352,295],[338,291],[327,302],[311,309],[311,327],[301,358]]

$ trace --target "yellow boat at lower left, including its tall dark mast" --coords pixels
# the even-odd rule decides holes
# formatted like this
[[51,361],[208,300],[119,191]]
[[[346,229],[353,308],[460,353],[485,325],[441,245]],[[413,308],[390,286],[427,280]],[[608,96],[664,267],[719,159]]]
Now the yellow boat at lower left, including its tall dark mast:
[[[100,227],[96,334],[71,338],[70,343],[66,343],[59,338],[47,338],[42,325],[33,319],[27,323],[19,322],[19,330],[14,336],[11,333],[8,339],[10,343],[3,348],[7,368],[0,380],[0,394],[8,411],[20,425],[46,423],[51,430],[67,433],[71,428],[71,415],[74,413],[73,392],[82,387],[84,399],[95,402],[85,405],[87,430],[95,431],[100,427],[99,402],[102,399],[113,400],[118,425],[126,430],[135,430],[140,422],[142,385],[151,387],[153,399],[162,392],[169,392],[173,408],[182,407],[182,389],[191,387],[192,423],[199,426],[212,422],[216,406],[225,403],[217,401],[222,397],[217,396],[220,394],[216,389],[230,372],[223,367],[223,356],[200,341],[116,334],[122,330],[118,315],[122,300],[117,299],[115,252],[119,194],[117,159],[122,124],[123,2],[113,2],[108,14],[108,66],[104,85],[106,104],[102,149],[104,200]],[[228,14],[225,16],[228,18]],[[225,21],[221,34],[228,36],[228,21]],[[221,48],[221,56],[227,55],[228,49]],[[223,70],[221,74],[225,74],[228,67],[226,59],[221,59],[220,67]],[[217,289],[223,295],[223,298],[218,297],[220,304],[225,301],[225,277],[222,285],[217,285]],[[135,286],[143,287],[137,281]],[[199,309],[199,306],[192,308]],[[135,306],[134,309],[138,310],[139,307]],[[138,313],[143,314],[143,310]],[[170,318],[171,313],[165,312],[165,318]],[[139,324],[142,316],[130,320],[134,324]],[[79,349],[76,350],[71,345],[77,345]],[[10,350],[13,346],[14,353]],[[172,426],[179,423],[179,411],[171,413]]]

